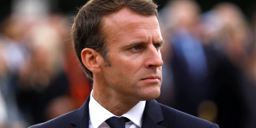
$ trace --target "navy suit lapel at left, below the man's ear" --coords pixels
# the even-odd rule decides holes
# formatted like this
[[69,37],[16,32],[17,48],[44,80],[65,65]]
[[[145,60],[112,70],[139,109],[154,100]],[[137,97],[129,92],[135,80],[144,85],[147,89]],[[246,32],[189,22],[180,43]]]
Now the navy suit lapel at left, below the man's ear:
[[71,124],[76,128],[88,128],[89,127],[89,101],[90,96],[85,103],[74,114]]

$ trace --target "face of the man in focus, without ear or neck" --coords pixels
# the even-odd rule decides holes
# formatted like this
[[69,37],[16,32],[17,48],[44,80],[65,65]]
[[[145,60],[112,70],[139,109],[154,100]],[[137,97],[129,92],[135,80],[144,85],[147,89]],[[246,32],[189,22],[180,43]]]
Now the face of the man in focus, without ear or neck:
[[111,95],[127,100],[159,97],[163,42],[157,18],[122,8],[103,18],[111,66],[102,67],[102,79]]

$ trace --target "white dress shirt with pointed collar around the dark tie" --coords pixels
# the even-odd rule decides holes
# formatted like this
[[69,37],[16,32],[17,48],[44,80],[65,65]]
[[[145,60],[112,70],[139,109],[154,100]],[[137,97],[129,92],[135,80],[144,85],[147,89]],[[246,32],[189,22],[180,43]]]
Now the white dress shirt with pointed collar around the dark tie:
[[[142,115],[144,112],[146,101],[140,101],[127,113],[123,114],[122,117],[130,119],[130,122],[125,124],[125,128],[141,128],[142,126]],[[94,98],[93,90],[91,91],[89,101],[89,128],[110,128],[105,120],[116,116],[103,108]],[[118,116],[116,116],[118,117]]]

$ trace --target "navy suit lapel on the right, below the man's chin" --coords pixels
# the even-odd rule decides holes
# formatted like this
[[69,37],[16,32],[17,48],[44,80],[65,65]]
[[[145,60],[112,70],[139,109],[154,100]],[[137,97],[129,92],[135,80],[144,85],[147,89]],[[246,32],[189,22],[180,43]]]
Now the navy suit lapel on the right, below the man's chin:
[[156,100],[146,101],[142,128],[164,128],[158,123],[163,121],[162,110]]

